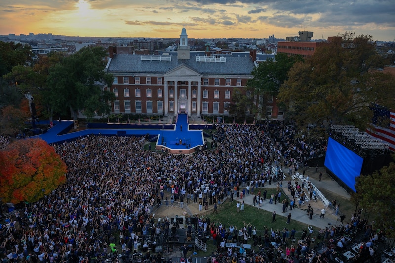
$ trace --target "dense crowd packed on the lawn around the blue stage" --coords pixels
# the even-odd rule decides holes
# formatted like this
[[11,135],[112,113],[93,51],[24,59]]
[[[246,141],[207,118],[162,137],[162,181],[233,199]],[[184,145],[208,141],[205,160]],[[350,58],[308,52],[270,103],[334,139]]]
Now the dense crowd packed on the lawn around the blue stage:
[[[259,186],[276,176],[271,169],[261,173],[264,165],[296,171],[323,151],[323,140],[307,143],[297,135],[294,126],[282,123],[218,125],[212,134],[215,148],[192,155],[144,150],[145,139],[137,137],[88,135],[54,144],[68,166],[67,183],[26,204],[0,225],[0,258],[88,261],[117,250],[113,235],[117,230],[122,251],[133,250],[139,236],[155,236],[158,223],[152,212],[163,202],[163,192],[173,200],[190,197],[191,201],[207,194],[213,199],[209,205],[216,206],[233,189]],[[0,146],[9,142],[6,137],[0,140]],[[256,231],[246,229],[243,236]],[[161,257],[153,259],[161,261]]]

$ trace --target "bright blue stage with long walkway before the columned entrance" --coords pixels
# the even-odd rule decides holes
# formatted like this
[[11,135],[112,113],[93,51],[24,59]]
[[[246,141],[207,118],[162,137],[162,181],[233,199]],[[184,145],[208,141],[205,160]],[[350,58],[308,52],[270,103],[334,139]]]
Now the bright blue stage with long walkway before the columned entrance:
[[[41,121],[40,124],[43,124]],[[88,134],[107,136],[146,136],[157,137],[156,148],[168,148],[171,153],[190,153],[191,149],[204,144],[202,129],[211,128],[212,125],[188,124],[186,114],[177,116],[176,124],[125,124],[125,123],[89,123],[87,129],[71,132],[74,122],[71,120],[54,121],[54,126],[44,134],[33,136],[41,138],[48,144],[71,141]],[[185,150],[189,150],[185,152]]]

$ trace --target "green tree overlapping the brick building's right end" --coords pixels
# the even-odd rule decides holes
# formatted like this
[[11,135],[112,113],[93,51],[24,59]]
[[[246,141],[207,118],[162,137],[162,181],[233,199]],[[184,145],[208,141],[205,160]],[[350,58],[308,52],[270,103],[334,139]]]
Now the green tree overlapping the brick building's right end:
[[280,86],[288,79],[288,71],[297,61],[302,61],[302,57],[277,54],[275,59],[260,62],[252,70],[251,75],[254,78],[247,81],[247,89],[257,98],[256,100],[259,100],[253,105],[264,118],[267,118],[266,106],[269,96],[277,96]]

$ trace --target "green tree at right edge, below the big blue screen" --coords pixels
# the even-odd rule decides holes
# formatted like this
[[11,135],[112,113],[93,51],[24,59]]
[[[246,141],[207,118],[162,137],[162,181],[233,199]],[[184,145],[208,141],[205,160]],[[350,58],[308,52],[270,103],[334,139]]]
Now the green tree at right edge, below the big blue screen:
[[369,220],[375,229],[382,229],[395,238],[395,163],[384,166],[372,175],[360,176],[356,180],[356,193],[351,201],[369,212]]

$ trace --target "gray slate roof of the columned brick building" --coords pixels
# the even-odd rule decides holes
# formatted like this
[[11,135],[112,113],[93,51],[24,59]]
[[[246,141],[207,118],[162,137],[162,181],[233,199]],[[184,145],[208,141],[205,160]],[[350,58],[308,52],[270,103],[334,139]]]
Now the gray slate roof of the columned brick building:
[[116,54],[107,72],[164,74],[178,65],[186,64],[200,74],[250,75],[254,68],[249,56],[225,56],[226,62],[196,62],[195,56],[191,52],[190,59],[177,59],[177,56],[171,55],[171,61],[149,61],[141,60],[141,55]]

